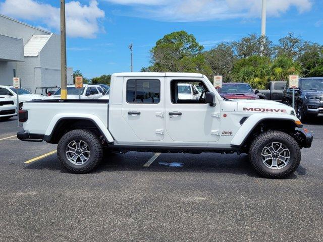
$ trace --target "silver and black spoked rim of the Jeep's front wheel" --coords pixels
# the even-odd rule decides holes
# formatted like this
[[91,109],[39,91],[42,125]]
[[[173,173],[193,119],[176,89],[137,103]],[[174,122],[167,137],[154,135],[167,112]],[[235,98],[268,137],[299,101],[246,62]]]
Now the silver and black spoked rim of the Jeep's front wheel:
[[267,144],[261,152],[261,159],[268,168],[279,170],[284,168],[291,158],[289,149],[280,142]]

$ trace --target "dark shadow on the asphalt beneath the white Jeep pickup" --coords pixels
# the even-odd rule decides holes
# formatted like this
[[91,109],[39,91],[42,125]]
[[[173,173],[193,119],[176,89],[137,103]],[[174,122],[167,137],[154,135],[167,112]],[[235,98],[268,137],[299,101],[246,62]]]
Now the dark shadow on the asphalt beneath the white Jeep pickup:
[[[213,153],[204,154],[161,154],[149,167],[143,165],[151,158],[153,153],[129,152],[127,154],[113,154],[104,157],[92,174],[108,173],[115,171],[137,171],[137,172],[180,172],[180,173],[228,173],[235,175],[248,175],[260,178],[251,164],[248,156],[242,154],[221,155]],[[62,173],[69,171],[61,165],[56,155],[34,162],[25,169],[53,170]],[[298,175],[305,175],[306,168],[299,166],[296,171]],[[80,174],[81,175],[81,174]],[[292,174],[287,179],[297,178]]]

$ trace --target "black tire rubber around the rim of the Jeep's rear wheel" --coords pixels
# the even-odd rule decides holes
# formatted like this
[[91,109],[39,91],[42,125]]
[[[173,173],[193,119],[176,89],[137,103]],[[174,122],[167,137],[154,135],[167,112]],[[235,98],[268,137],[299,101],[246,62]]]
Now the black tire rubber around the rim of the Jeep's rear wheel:
[[[83,140],[89,147],[90,156],[86,163],[76,165],[70,162],[66,156],[67,146],[73,140]],[[59,157],[63,166],[65,166],[72,173],[88,173],[93,170],[102,160],[103,148],[99,138],[88,130],[72,130],[66,133],[58,143],[57,156]]]

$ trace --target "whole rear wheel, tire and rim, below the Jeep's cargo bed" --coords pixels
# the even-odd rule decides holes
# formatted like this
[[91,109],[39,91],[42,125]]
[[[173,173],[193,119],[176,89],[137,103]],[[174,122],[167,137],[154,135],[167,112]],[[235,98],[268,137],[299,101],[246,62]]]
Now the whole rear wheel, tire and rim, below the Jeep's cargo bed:
[[87,173],[102,160],[103,149],[98,137],[88,130],[66,133],[57,146],[57,155],[67,169]]

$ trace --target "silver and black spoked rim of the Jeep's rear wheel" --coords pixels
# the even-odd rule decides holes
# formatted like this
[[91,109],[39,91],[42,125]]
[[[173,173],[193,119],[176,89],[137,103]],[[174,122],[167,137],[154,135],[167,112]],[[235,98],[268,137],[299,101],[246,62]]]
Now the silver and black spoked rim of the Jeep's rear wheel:
[[91,152],[85,141],[73,140],[67,145],[65,154],[72,164],[83,165],[89,160]]

